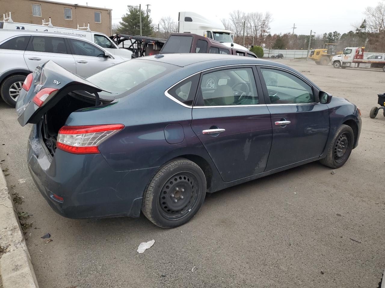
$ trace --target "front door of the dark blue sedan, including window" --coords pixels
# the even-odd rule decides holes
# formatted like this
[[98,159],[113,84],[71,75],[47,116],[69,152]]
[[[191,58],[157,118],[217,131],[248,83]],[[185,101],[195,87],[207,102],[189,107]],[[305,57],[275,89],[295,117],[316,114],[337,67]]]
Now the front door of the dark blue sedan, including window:
[[320,156],[330,125],[328,106],[315,96],[318,91],[295,73],[262,66],[260,71],[273,127],[266,171]]

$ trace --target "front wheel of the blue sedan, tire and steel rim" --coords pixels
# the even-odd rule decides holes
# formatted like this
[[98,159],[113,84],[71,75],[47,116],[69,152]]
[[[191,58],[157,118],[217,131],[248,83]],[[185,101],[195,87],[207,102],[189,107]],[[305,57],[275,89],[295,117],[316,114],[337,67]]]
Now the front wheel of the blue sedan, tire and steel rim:
[[352,153],[354,142],[353,129],[342,124],[333,137],[326,157],[320,159],[321,164],[330,168],[340,168],[348,161],[350,153]]

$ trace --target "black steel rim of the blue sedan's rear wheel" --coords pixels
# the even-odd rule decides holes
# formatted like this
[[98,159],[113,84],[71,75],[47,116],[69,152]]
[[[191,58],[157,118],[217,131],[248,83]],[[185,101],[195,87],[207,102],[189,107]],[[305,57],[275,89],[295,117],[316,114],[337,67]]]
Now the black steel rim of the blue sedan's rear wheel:
[[168,220],[178,220],[192,210],[199,198],[198,178],[191,172],[174,174],[159,194],[159,211]]

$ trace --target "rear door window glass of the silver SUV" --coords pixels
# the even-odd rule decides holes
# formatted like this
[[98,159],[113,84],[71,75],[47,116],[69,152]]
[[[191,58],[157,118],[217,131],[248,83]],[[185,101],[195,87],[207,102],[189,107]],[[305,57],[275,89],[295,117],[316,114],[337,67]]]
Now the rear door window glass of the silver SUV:
[[27,51],[68,54],[64,38],[61,37],[33,36]]

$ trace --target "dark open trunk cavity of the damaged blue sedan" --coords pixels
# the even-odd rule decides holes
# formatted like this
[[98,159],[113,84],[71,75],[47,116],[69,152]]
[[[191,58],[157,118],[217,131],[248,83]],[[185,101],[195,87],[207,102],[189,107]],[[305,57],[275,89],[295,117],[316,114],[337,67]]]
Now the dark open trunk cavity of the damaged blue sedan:
[[[87,96],[87,98],[85,96]],[[70,92],[44,114],[41,120],[41,135],[45,146],[52,156],[54,156],[56,151],[57,134],[72,112],[110,102],[100,101],[98,105],[95,105],[95,99],[92,99],[92,97],[94,96],[84,91],[76,91],[76,93]]]

